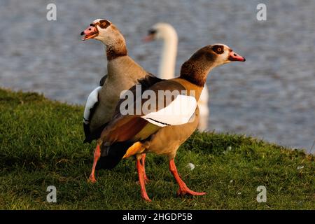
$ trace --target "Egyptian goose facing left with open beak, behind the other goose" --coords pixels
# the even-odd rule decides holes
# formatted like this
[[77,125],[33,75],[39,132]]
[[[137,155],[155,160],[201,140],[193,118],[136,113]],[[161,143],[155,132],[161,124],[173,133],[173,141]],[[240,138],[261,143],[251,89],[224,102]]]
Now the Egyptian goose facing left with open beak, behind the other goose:
[[[107,57],[107,75],[87,97],[83,113],[84,142],[98,139],[105,125],[113,117],[116,104],[119,101],[120,92],[128,90],[138,83],[139,78],[150,76],[137,62],[127,55],[127,46],[123,34],[109,20],[94,20],[90,27],[81,32],[82,40],[94,38],[105,46]],[[143,162],[145,160],[143,155]],[[94,176],[90,181],[95,182]]]

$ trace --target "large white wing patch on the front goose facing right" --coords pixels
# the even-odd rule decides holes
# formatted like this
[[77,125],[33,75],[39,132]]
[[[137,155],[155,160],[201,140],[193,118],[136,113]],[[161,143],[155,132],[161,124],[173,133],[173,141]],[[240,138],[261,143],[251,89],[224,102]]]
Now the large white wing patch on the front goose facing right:
[[160,111],[151,112],[142,116],[153,125],[165,127],[167,125],[183,125],[192,122],[190,118],[197,108],[195,97],[178,95],[174,101]]

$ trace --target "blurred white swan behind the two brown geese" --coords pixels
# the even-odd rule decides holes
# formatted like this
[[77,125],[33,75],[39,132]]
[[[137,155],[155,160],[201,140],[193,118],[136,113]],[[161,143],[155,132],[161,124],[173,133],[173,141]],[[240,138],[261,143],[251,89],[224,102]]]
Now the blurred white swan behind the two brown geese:
[[[158,22],[148,30],[148,36],[144,38],[144,41],[162,40],[163,48],[161,52],[159,76],[164,79],[170,79],[175,77],[176,66],[176,54],[178,37],[176,30],[172,25],[165,22]],[[204,85],[202,94],[198,101],[200,109],[200,121],[198,124],[199,130],[207,130],[209,107],[208,107],[208,88]]]

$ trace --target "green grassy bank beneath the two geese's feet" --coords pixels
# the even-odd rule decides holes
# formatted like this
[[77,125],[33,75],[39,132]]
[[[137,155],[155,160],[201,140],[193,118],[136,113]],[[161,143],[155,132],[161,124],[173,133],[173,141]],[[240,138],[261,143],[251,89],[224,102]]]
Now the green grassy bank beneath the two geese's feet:
[[[94,144],[82,143],[82,106],[0,89],[0,114],[0,209],[315,209],[314,156],[303,151],[196,132],[179,148],[176,165],[188,187],[207,195],[176,197],[167,158],[149,154],[147,203],[133,160],[87,183]],[[50,185],[57,203],[46,202]],[[256,201],[258,186],[267,188],[267,203]]]

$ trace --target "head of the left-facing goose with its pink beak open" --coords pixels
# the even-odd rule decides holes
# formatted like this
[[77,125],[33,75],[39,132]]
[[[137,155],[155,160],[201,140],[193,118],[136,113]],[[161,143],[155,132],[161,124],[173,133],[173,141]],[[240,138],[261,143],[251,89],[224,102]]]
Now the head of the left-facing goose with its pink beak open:
[[94,38],[106,45],[111,45],[117,38],[123,38],[116,26],[111,21],[104,19],[94,20],[90,27],[81,32],[81,35],[85,35],[82,38],[83,41]]

